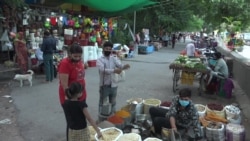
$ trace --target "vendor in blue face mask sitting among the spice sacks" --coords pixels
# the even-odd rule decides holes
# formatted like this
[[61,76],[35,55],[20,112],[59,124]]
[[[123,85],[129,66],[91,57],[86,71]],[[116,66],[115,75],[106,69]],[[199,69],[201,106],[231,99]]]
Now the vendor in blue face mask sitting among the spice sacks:
[[156,136],[161,136],[162,127],[175,132],[185,129],[191,138],[201,138],[199,114],[191,100],[191,90],[181,89],[172,99],[170,109],[151,107],[149,109]]

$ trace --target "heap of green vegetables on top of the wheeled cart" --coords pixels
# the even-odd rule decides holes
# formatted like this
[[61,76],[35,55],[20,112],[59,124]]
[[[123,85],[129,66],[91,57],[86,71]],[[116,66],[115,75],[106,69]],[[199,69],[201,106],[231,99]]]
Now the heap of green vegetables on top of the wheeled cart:
[[197,71],[206,72],[206,66],[201,62],[200,58],[188,58],[187,56],[180,55],[169,66],[170,69],[194,69]]

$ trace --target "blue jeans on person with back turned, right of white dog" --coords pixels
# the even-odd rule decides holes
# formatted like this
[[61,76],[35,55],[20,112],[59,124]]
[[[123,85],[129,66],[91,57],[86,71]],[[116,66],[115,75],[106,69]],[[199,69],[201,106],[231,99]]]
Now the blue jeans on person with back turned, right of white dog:
[[53,55],[44,54],[43,63],[45,68],[46,81],[52,81],[54,78]]

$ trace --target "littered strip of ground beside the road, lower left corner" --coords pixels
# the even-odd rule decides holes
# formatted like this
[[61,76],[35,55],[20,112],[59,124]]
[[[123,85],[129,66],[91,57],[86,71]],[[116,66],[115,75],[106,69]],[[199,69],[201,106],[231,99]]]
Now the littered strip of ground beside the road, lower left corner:
[[[5,75],[5,74],[1,74]],[[6,76],[5,76],[6,77]],[[0,139],[1,141],[24,141],[17,124],[17,112],[11,98],[11,78],[0,76]],[[9,120],[7,123],[4,122]]]

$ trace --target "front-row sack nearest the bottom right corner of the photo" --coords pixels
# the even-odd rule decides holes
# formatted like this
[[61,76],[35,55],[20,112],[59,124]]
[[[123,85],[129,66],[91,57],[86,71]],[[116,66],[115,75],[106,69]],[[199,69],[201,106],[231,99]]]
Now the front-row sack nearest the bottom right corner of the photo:
[[229,123],[226,126],[227,141],[245,141],[246,133],[242,125]]

